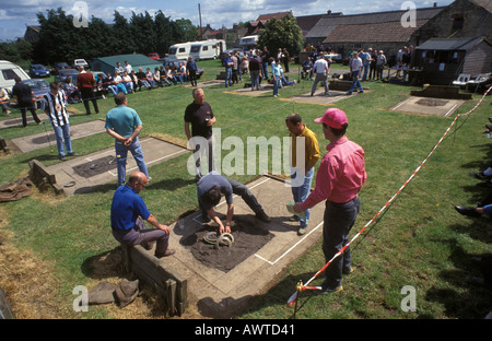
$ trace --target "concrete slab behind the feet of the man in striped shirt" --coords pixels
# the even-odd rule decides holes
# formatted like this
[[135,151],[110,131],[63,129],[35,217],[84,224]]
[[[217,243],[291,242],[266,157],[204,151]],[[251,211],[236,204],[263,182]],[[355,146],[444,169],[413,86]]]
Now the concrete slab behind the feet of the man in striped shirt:
[[[51,145],[56,150],[56,139],[52,131],[52,127],[49,121],[46,122],[46,131],[39,132],[33,136],[22,137],[12,139],[10,142],[13,143],[22,153],[31,152],[39,148]],[[85,138],[99,132],[105,132],[104,129],[105,121],[102,119],[96,119],[80,125],[70,125],[70,137],[72,140]]]

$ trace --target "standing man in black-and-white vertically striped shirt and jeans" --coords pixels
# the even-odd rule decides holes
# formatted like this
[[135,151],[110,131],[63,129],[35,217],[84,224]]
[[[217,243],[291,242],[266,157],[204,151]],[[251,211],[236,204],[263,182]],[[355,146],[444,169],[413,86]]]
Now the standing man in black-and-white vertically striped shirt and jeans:
[[[57,140],[58,156],[61,161],[66,161],[66,155],[77,156],[72,150],[72,142],[70,140],[70,121],[67,113],[67,97],[65,92],[59,89],[57,82],[49,83],[49,93],[43,97],[44,111],[48,115],[55,131]],[[63,149],[65,142],[65,149]]]

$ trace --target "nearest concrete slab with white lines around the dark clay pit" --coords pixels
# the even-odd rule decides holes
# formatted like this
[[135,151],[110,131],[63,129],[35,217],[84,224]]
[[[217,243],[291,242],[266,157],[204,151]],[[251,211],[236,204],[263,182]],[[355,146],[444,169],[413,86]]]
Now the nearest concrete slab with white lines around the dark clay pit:
[[[269,224],[257,220],[241,198],[234,198],[234,222],[248,221],[254,227],[271,234],[271,238],[255,254],[230,271],[214,269],[198,260],[190,251],[189,243],[185,242],[203,228],[201,212],[192,212],[171,226],[169,247],[176,249],[176,254],[160,260],[188,280],[190,304],[196,304],[207,317],[231,318],[239,314],[251,298],[272,287],[286,267],[321,235],[323,204],[312,210],[309,228],[305,235],[298,236],[298,224],[289,221],[292,214],[285,204],[292,200],[292,192],[283,180],[261,176],[248,184],[248,188],[272,219]],[[224,202],[216,207],[216,212],[225,217]],[[232,230],[234,235],[234,227]]]

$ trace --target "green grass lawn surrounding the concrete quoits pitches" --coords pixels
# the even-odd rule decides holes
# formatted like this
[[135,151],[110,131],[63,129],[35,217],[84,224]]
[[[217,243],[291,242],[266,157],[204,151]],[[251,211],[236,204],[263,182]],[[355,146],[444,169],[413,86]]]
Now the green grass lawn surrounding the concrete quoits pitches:
[[[214,79],[222,70],[219,61],[199,62],[199,66],[206,69],[207,80]],[[297,66],[291,68],[290,77],[297,79]],[[321,116],[326,106],[285,101],[309,92],[311,85],[312,82],[302,81],[281,89],[279,98],[272,97],[272,93],[257,97],[232,94],[225,92],[223,84],[208,86],[204,93],[218,118],[215,127],[222,128],[222,140],[285,137],[284,119],[294,110],[316,132],[325,153],[327,141],[320,125],[313,119]],[[348,114],[348,137],[366,153],[367,183],[360,193],[362,208],[352,235],[398,191],[453,121],[453,117],[390,111],[393,105],[410,95],[412,87],[380,82],[364,85],[370,87],[365,94],[335,105]],[[137,109],[143,121],[141,137],[185,139],[183,117],[192,101],[189,87],[142,91],[128,98],[129,106]],[[479,98],[475,95],[458,113],[470,110]],[[482,133],[483,125],[492,116],[490,98],[469,116],[458,118],[412,181],[354,242],[355,272],[344,277],[344,291],[320,296],[302,293],[296,318],[470,319],[483,318],[492,310],[491,292],[470,283],[471,277],[480,277],[470,258],[491,254],[487,237],[490,221],[467,219],[454,210],[455,204],[475,205],[490,190],[468,176],[469,172],[485,169],[492,156],[490,141]],[[73,105],[80,114],[71,116],[71,125],[104,118],[114,107],[113,98],[98,104],[101,114],[92,116],[82,115],[82,104]],[[24,129],[3,129],[0,136],[10,140],[43,131],[43,126],[31,124]],[[79,155],[113,143],[107,133],[72,141]],[[33,158],[46,165],[59,162],[49,148],[2,155],[3,183],[26,176],[27,163]],[[160,222],[171,224],[181,213],[197,208],[194,176],[186,172],[187,158],[188,155],[183,155],[150,167],[153,180],[141,195]],[[243,183],[253,178],[232,177]],[[72,291],[77,285],[92,287],[103,280],[120,280],[120,269],[112,263],[118,246],[109,226],[114,190],[115,184],[109,184],[70,198],[36,190],[28,198],[0,204],[0,287],[7,292],[17,318],[164,317],[150,296],[139,297],[125,309],[112,306],[91,306],[87,313],[72,309],[77,297]],[[278,284],[259,296],[241,318],[291,318],[294,309],[286,302],[296,283],[306,282],[323,264],[319,240],[291,263]],[[323,274],[312,284],[321,281]],[[414,289],[417,311],[401,308],[407,296],[401,290],[407,285]]]

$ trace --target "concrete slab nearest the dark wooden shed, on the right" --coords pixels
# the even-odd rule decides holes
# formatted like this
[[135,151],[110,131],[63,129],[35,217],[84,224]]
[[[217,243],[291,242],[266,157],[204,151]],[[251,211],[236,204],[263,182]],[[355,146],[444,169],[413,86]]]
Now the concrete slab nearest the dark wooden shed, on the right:
[[391,111],[450,116],[465,101],[411,96],[390,108]]

